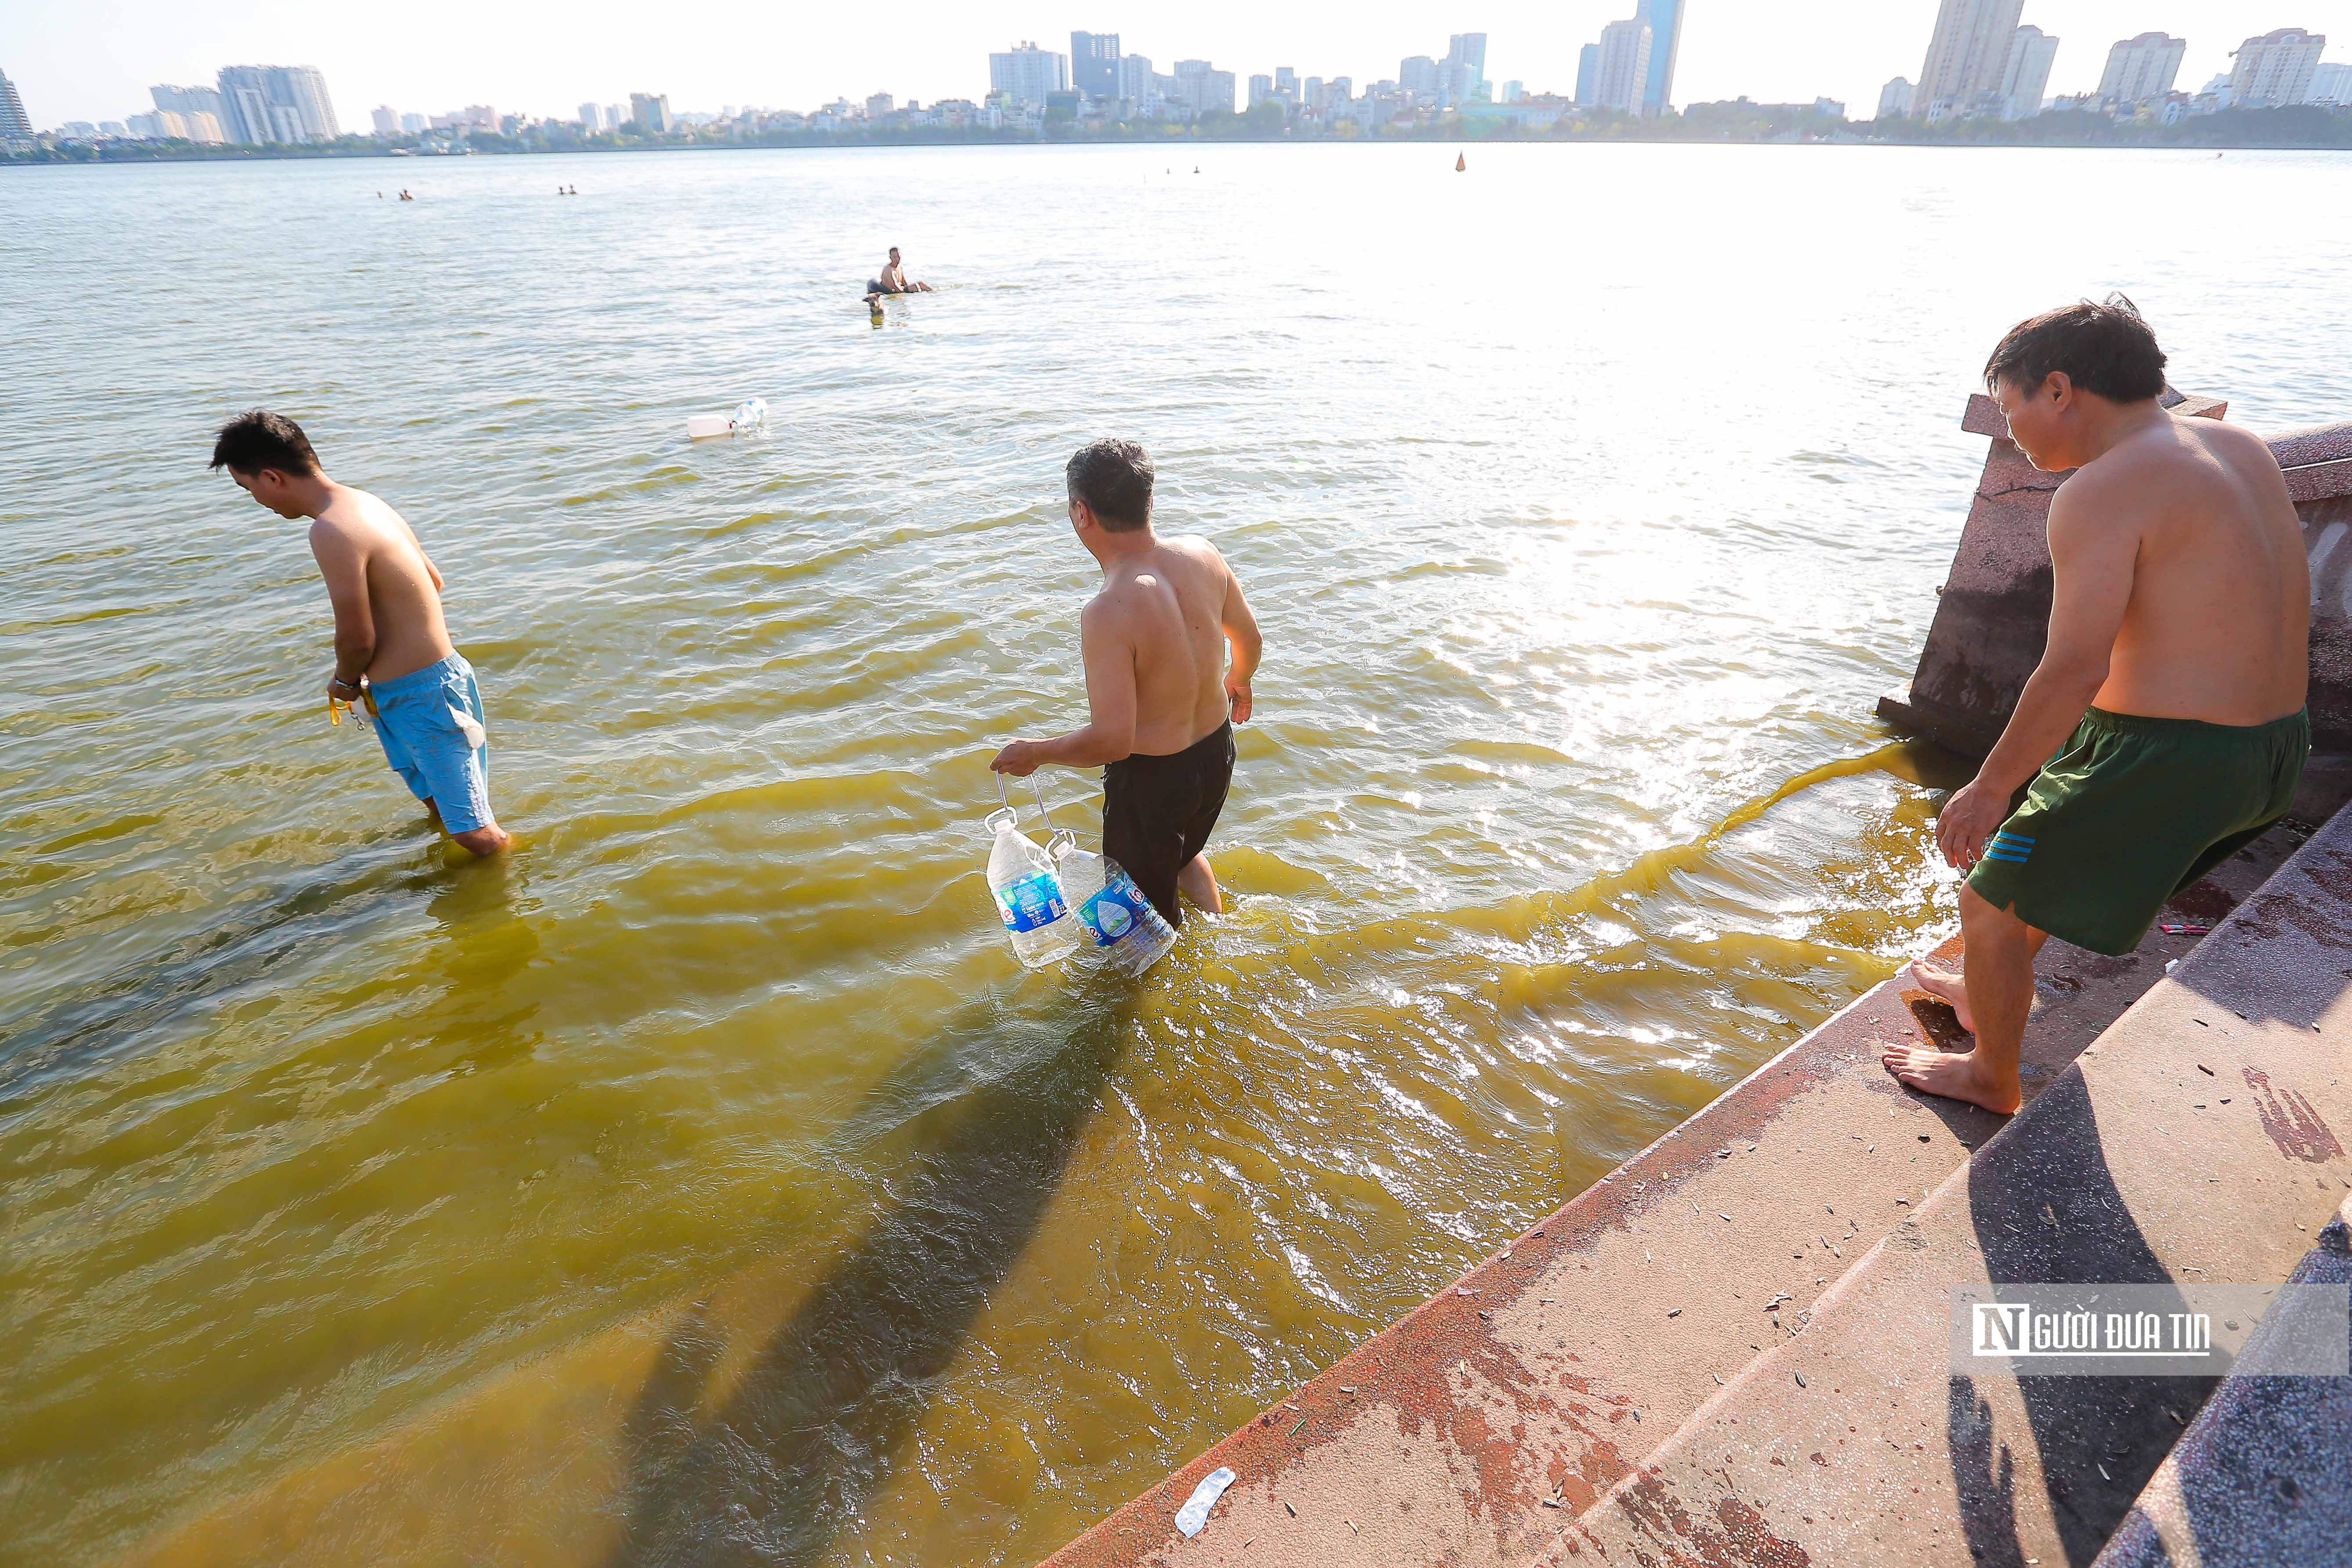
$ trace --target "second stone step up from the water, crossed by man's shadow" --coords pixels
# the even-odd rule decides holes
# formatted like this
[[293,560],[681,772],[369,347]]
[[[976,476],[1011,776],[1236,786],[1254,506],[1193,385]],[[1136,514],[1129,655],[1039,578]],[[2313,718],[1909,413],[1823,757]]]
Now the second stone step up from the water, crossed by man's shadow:
[[1962,1378],[1957,1286],[2274,1284],[2352,1190],[2352,816],[1541,1563],[2086,1563],[2211,1392]]

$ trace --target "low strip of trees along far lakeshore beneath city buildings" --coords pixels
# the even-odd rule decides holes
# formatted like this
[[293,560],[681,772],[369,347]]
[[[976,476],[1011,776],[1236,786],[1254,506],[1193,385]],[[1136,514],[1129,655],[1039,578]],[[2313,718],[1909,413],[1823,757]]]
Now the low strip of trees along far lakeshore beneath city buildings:
[[[2079,125],[2091,120],[2091,125]],[[1562,122],[1566,125],[1566,122]],[[1656,129],[1649,129],[1653,127]],[[957,146],[1103,146],[1103,148],[1207,148],[1230,143],[1254,146],[1924,146],[1924,148],[2178,148],[2206,153],[2340,153],[2352,150],[2352,110],[2328,110],[2317,103],[2293,108],[2232,108],[2216,115],[2178,120],[2173,125],[2114,125],[2091,115],[2044,113],[2034,120],[1978,122],[1964,120],[1950,132],[1912,127],[1907,134],[1877,129],[1877,120],[1820,120],[1816,115],[1790,115],[1783,106],[1762,103],[1703,103],[1668,122],[1639,122],[1625,118],[1590,120],[1576,129],[1526,132],[1517,125],[1475,127],[1444,125],[1414,132],[1388,132],[1371,136],[1343,136],[1317,132],[1310,136],[1265,134],[1244,129],[1247,120],[1232,115],[1228,122],[1207,127],[1155,127],[1127,125],[1112,132],[1070,132],[1049,127],[1044,132],[750,132],[750,134],[694,134],[682,132],[661,141],[612,134],[595,139],[579,136],[576,129],[560,127],[550,134],[529,127],[520,136],[475,132],[447,143],[447,150],[428,150],[419,143],[388,143],[372,136],[346,136],[327,146],[226,146],[226,143],[162,143],[118,141],[106,146],[40,146],[24,153],[0,153],[0,167],[38,165],[143,165],[143,162],[306,162],[320,158],[383,158],[430,162],[437,158],[536,158],[548,153],[727,153],[748,148],[957,148]],[[1905,122],[1910,125],[1910,122]],[[1230,129],[1228,129],[1230,127]],[[562,132],[569,129],[569,136]],[[1663,132],[1663,134],[1661,134]]]

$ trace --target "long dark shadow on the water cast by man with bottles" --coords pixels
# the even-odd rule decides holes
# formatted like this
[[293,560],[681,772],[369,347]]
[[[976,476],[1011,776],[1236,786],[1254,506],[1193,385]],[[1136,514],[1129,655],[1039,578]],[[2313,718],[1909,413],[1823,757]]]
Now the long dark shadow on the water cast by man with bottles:
[[623,1427],[623,1530],[604,1568],[826,1554],[1035,1237],[1136,999],[1096,973],[1037,1013],[974,1004],[868,1095],[835,1150],[901,1128],[910,1147],[875,1185],[887,1206],[717,1401],[713,1378],[739,1356],[708,1302],[670,1333]]

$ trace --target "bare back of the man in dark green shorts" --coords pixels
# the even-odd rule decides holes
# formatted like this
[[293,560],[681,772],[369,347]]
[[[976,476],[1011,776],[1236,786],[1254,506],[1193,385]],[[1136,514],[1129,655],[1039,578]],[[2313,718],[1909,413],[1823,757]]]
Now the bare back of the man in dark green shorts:
[[2310,684],[2310,562],[2277,458],[2251,430],[2164,414],[2070,477],[2051,529],[2129,536],[2107,712],[2267,724]]

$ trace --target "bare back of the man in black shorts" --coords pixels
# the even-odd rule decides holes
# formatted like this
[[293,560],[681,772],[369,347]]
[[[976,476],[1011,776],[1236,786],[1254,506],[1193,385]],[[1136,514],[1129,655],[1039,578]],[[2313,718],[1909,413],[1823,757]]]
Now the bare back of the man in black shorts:
[[1225,696],[1228,604],[1240,597],[1232,569],[1207,538],[1160,538],[1138,557],[1115,562],[1103,590],[1080,616],[1089,665],[1096,644],[1134,661],[1134,755],[1167,757],[1247,719]]

